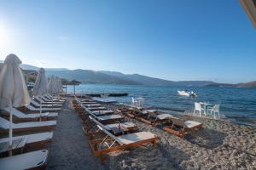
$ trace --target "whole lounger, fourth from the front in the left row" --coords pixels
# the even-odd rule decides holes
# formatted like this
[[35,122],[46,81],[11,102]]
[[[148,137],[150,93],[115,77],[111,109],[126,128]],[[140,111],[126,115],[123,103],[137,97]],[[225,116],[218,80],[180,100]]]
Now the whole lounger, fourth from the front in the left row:
[[[7,113],[9,113],[9,108],[4,109]],[[42,113],[41,115],[38,113],[35,114],[25,114],[21,111],[13,108],[13,121],[14,122],[32,122],[41,120],[53,120],[58,116],[58,113]],[[8,114],[9,117],[9,114]]]

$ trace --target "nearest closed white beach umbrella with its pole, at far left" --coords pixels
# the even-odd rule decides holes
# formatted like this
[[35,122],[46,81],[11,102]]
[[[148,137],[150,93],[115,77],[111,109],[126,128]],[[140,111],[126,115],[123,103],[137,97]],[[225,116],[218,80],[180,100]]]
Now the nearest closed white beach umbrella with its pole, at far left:
[[9,145],[12,145],[12,113],[13,107],[29,105],[26,82],[20,70],[21,61],[15,54],[9,54],[4,60],[0,73],[0,109],[9,107]]

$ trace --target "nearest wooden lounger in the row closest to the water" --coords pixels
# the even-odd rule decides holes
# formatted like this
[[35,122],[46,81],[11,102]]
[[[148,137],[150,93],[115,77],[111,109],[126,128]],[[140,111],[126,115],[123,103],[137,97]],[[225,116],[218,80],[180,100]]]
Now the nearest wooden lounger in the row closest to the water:
[[174,133],[180,137],[183,137],[186,133],[189,133],[190,131],[193,131],[202,127],[201,122],[194,122],[194,121],[183,122],[182,119],[179,119],[177,117],[170,117],[170,119],[172,121],[172,125],[164,127],[164,130],[166,130],[166,132],[169,132],[169,133]]

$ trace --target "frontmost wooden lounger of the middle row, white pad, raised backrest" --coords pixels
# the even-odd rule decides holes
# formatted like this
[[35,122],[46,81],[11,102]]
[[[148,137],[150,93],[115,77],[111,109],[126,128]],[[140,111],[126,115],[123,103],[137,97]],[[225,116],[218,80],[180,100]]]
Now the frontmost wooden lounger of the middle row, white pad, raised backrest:
[[142,144],[156,145],[157,136],[155,136],[154,133],[139,132],[129,133],[122,136],[114,136],[101,126],[97,126],[102,130],[102,132],[106,133],[107,136],[104,139],[92,139],[89,141],[89,144],[92,153],[95,156],[99,156],[102,162],[105,159],[105,155],[113,151],[125,150]]

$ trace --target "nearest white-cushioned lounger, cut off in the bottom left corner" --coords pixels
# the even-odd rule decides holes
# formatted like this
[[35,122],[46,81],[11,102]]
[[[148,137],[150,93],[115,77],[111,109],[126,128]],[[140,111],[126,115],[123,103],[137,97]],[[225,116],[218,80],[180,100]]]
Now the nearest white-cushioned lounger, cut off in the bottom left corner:
[[48,157],[48,150],[37,150],[9,156],[0,159],[0,168],[3,170],[44,169]]

